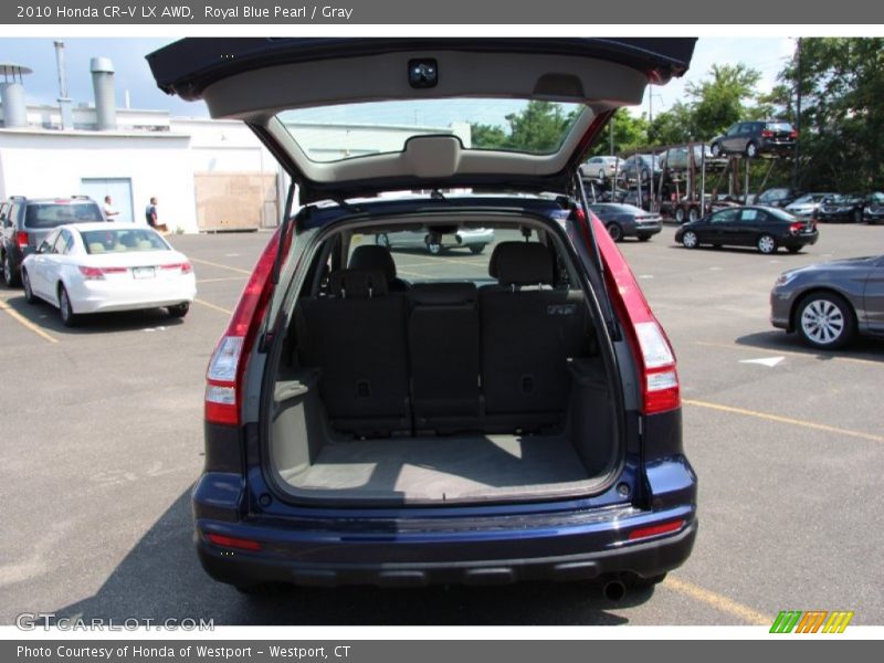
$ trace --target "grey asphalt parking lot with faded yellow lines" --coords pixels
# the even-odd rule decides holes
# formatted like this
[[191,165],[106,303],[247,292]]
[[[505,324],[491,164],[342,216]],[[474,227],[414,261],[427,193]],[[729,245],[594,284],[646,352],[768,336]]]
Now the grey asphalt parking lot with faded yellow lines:
[[[0,286],[0,623],[59,617],[215,624],[757,624],[780,610],[884,623],[884,344],[819,354],[768,323],[791,266],[884,252],[884,228],[821,227],[803,253],[676,246],[673,227],[623,253],[680,360],[699,476],[694,554],[654,591],[581,585],[297,589],[256,601],[206,577],[189,492],[202,464],[203,372],[266,233],[181,235],[198,302],[62,326]],[[436,259],[433,259],[436,260]],[[484,264],[465,252],[442,260]],[[429,256],[398,255],[401,276]],[[463,266],[463,265],[461,265]]]

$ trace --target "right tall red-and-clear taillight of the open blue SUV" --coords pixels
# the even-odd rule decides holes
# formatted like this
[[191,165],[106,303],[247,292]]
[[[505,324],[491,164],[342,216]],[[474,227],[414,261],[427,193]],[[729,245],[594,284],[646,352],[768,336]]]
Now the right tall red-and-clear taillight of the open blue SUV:
[[[579,217],[578,217],[579,219]],[[635,276],[604,225],[594,215],[596,240],[606,266],[606,285],[611,302],[624,323],[627,338],[641,370],[642,412],[656,414],[682,406],[675,354],[642,294]],[[585,233],[589,229],[581,221]]]

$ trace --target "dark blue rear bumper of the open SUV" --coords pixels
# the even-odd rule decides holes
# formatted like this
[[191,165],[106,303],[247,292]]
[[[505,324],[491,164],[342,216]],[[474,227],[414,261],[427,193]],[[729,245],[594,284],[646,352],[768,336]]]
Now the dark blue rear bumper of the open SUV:
[[[684,520],[671,535],[630,543],[622,529]],[[260,551],[231,550],[208,533],[257,540]],[[523,580],[603,580],[620,573],[650,578],[681,566],[697,533],[692,507],[635,512],[634,518],[520,529],[446,533],[366,533],[281,529],[197,520],[197,552],[221,582],[375,585],[506,585]]]

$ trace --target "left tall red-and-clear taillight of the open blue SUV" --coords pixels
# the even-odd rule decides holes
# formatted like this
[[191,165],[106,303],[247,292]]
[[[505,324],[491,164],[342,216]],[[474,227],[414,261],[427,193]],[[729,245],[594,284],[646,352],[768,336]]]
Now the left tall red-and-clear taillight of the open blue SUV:
[[245,371],[243,357],[249,356],[259,325],[266,312],[271,292],[270,274],[278,244],[277,230],[257,259],[228,329],[218,341],[209,360],[209,369],[206,372],[206,421],[210,423],[228,425],[241,423],[240,398]]

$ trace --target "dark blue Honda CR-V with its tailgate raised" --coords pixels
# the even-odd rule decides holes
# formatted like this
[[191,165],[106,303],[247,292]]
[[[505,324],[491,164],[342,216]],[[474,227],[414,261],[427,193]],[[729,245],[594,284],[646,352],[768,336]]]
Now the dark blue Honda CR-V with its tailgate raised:
[[[292,179],[207,372],[192,502],[211,577],[588,579],[617,598],[685,561],[697,484],[674,354],[579,166],[694,41],[194,39],[148,56]],[[494,230],[484,254],[390,251],[476,228]]]

